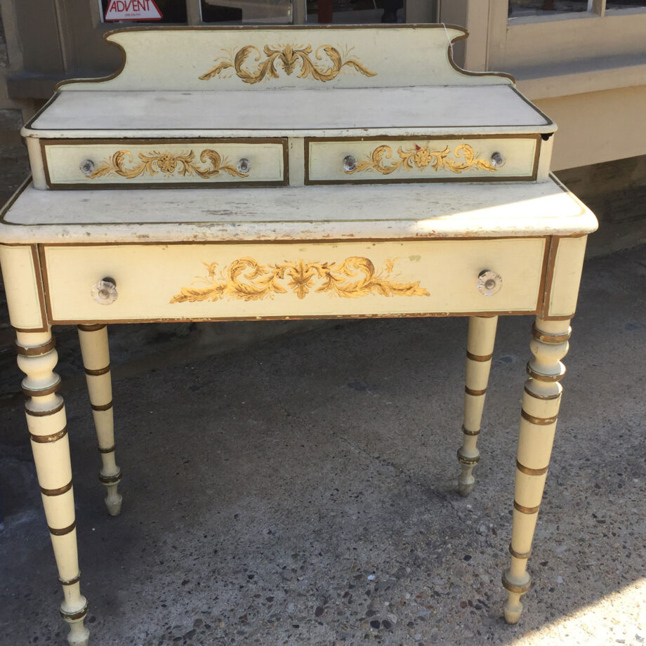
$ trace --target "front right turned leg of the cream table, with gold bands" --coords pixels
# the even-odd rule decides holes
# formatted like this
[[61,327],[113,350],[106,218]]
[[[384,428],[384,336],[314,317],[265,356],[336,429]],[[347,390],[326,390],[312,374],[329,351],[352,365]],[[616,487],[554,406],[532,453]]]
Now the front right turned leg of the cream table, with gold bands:
[[532,328],[529,347],[534,357],[527,364],[529,379],[522,397],[509,546],[511,565],[503,574],[503,586],[508,591],[505,604],[508,624],[520,619],[520,597],[529,590],[527,559],[532,553],[536,518],[552,452],[562,391],[558,382],[565,374],[561,359],[567,355],[570,331],[569,321],[544,321],[540,317],[536,317]]

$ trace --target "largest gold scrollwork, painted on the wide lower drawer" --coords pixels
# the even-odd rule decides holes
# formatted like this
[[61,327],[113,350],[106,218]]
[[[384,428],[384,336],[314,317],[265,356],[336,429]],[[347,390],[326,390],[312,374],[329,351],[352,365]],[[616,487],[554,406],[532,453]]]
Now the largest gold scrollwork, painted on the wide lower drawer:
[[197,284],[204,287],[182,287],[180,294],[171,298],[171,303],[196,303],[239,298],[243,301],[262,301],[275,294],[286,294],[286,286],[298,296],[305,298],[313,289],[328,292],[331,296],[357,298],[375,294],[378,296],[429,296],[419,286],[419,281],[396,283],[388,280],[395,260],[385,261],[385,268],[376,271],[368,258],[351,256],[341,263],[306,263],[303,259],[261,265],[253,258],[239,258],[228,267],[217,270],[218,263],[202,263],[206,277],[198,277]]

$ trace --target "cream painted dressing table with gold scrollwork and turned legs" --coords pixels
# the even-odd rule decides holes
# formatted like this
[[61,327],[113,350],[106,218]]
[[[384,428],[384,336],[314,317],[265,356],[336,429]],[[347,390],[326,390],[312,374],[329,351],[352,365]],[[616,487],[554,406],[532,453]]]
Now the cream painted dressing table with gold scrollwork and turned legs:
[[549,174],[555,124],[505,74],[454,65],[465,37],[444,25],[112,32],[121,70],[62,84],[23,129],[32,180],[2,214],[0,261],[70,644],[88,642],[87,602],[55,324],[79,329],[116,515],[107,323],[468,316],[466,496],[497,317],[536,315],[503,574],[518,621],[596,220]]

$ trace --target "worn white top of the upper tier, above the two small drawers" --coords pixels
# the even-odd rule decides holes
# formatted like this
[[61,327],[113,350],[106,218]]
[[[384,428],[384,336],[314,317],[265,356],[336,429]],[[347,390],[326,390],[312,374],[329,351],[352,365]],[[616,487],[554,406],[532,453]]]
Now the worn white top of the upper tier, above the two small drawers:
[[[429,81],[429,79],[427,79]],[[555,125],[513,86],[60,91],[22,136],[48,139],[446,136],[551,133]]]

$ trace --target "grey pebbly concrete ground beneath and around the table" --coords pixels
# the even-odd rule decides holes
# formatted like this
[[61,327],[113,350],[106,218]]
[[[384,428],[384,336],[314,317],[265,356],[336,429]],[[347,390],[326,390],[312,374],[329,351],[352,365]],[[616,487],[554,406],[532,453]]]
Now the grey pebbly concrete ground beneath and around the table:
[[[500,574],[531,317],[499,323],[468,499],[466,319],[113,326],[117,518],[74,331],[60,329],[91,642],[643,643],[645,294],[646,247],[586,264],[516,626]],[[62,645],[11,350],[0,365],[0,642]]]

